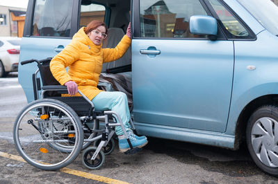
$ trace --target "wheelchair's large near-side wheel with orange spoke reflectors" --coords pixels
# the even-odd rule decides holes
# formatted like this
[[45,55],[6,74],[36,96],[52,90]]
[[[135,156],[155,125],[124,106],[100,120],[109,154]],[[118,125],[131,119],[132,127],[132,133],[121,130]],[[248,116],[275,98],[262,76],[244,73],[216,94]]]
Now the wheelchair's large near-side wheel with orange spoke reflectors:
[[72,108],[53,99],[35,100],[17,116],[13,138],[29,164],[56,170],[72,163],[83,145],[81,122]]

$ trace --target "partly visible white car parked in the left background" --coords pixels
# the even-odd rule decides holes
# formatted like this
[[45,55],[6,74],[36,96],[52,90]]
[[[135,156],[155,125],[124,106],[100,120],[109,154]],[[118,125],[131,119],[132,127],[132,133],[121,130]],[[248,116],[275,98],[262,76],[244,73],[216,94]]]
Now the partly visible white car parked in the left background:
[[0,37],[0,77],[17,71],[20,41],[19,37]]

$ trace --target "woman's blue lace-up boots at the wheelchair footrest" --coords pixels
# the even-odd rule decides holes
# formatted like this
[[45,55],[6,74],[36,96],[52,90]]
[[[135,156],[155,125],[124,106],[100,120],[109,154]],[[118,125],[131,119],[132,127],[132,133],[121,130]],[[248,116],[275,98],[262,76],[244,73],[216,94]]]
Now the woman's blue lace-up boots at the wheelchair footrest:
[[[126,138],[124,136],[118,136],[119,138],[119,149],[120,152],[125,152],[129,149],[131,149],[129,147],[129,142],[127,142]],[[147,139],[136,139],[133,136],[129,136],[129,140],[131,141],[131,145],[133,146],[133,148],[136,147],[144,147],[145,145],[147,145]]]

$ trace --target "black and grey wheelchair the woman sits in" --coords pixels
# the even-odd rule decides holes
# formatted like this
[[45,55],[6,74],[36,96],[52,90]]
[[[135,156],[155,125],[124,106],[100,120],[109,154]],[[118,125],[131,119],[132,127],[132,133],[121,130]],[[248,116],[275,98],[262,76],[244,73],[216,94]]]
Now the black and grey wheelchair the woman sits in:
[[[13,128],[15,146],[27,163],[39,169],[56,170],[70,165],[82,152],[83,165],[99,169],[105,155],[115,147],[115,126],[122,127],[129,143],[130,149],[124,154],[140,151],[132,147],[117,113],[95,111],[94,104],[81,91],[78,97],[62,97],[67,87],[61,86],[51,74],[51,58],[30,59],[21,64],[33,62],[38,64],[32,75],[35,100],[22,109]],[[135,131],[132,120],[129,123]]]

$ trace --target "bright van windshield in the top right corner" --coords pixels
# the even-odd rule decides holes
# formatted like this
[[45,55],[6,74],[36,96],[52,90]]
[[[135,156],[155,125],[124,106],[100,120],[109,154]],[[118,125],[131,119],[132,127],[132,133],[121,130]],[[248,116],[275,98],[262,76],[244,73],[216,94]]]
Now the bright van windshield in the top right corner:
[[238,0],[270,33],[278,36],[278,6],[270,0]]

